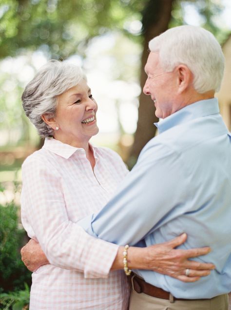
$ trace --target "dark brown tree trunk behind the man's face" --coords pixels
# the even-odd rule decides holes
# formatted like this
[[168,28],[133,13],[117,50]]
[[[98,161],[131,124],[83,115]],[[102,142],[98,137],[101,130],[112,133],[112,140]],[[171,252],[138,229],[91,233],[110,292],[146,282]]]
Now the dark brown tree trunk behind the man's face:
[[[148,43],[151,39],[168,29],[173,1],[174,0],[150,0],[143,11],[142,22],[144,48],[141,57],[141,89],[143,89],[147,78],[144,72],[144,66],[149,55]],[[151,97],[144,95],[143,91],[141,91],[139,97],[137,129],[135,132],[134,144],[131,148],[128,159],[129,168],[134,166],[144,145],[155,135],[156,127],[153,123],[158,121],[158,119],[154,112],[155,107]]]

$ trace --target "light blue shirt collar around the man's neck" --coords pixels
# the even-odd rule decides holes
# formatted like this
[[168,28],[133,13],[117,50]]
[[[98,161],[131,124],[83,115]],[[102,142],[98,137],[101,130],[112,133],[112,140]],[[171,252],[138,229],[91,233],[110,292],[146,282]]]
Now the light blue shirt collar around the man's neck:
[[158,128],[159,133],[162,133],[176,125],[193,120],[197,117],[203,117],[217,113],[219,113],[217,98],[200,100],[187,105],[186,107],[176,111],[164,119],[160,119],[159,122],[154,123],[154,125]]

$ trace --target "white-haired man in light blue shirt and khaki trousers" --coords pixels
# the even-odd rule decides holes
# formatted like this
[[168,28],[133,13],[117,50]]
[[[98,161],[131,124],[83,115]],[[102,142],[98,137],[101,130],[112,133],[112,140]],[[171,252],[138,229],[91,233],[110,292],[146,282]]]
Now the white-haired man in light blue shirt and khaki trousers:
[[[180,248],[212,248],[198,261],[216,269],[197,282],[135,270],[131,310],[228,310],[231,134],[214,98],[224,56],[209,31],[193,26],[169,29],[149,48],[143,91],[154,101],[159,135],[144,147],[114,198],[79,225],[119,245],[144,247],[186,232]],[[124,258],[129,274],[127,246]]]

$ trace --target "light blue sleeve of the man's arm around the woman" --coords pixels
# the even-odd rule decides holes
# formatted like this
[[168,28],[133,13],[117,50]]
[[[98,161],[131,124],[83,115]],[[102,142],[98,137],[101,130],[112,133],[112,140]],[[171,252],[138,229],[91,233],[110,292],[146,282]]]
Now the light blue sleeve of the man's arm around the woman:
[[177,216],[177,208],[186,199],[179,157],[169,147],[149,142],[116,195],[99,213],[85,217],[79,225],[100,239],[135,245]]

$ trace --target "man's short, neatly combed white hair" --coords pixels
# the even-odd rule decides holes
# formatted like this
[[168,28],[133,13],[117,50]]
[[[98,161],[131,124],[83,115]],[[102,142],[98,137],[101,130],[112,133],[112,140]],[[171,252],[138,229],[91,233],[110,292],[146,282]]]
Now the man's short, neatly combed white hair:
[[219,91],[225,58],[208,30],[190,25],[174,27],[152,39],[149,49],[159,53],[160,65],[167,72],[185,64],[193,73],[193,86],[198,93]]

